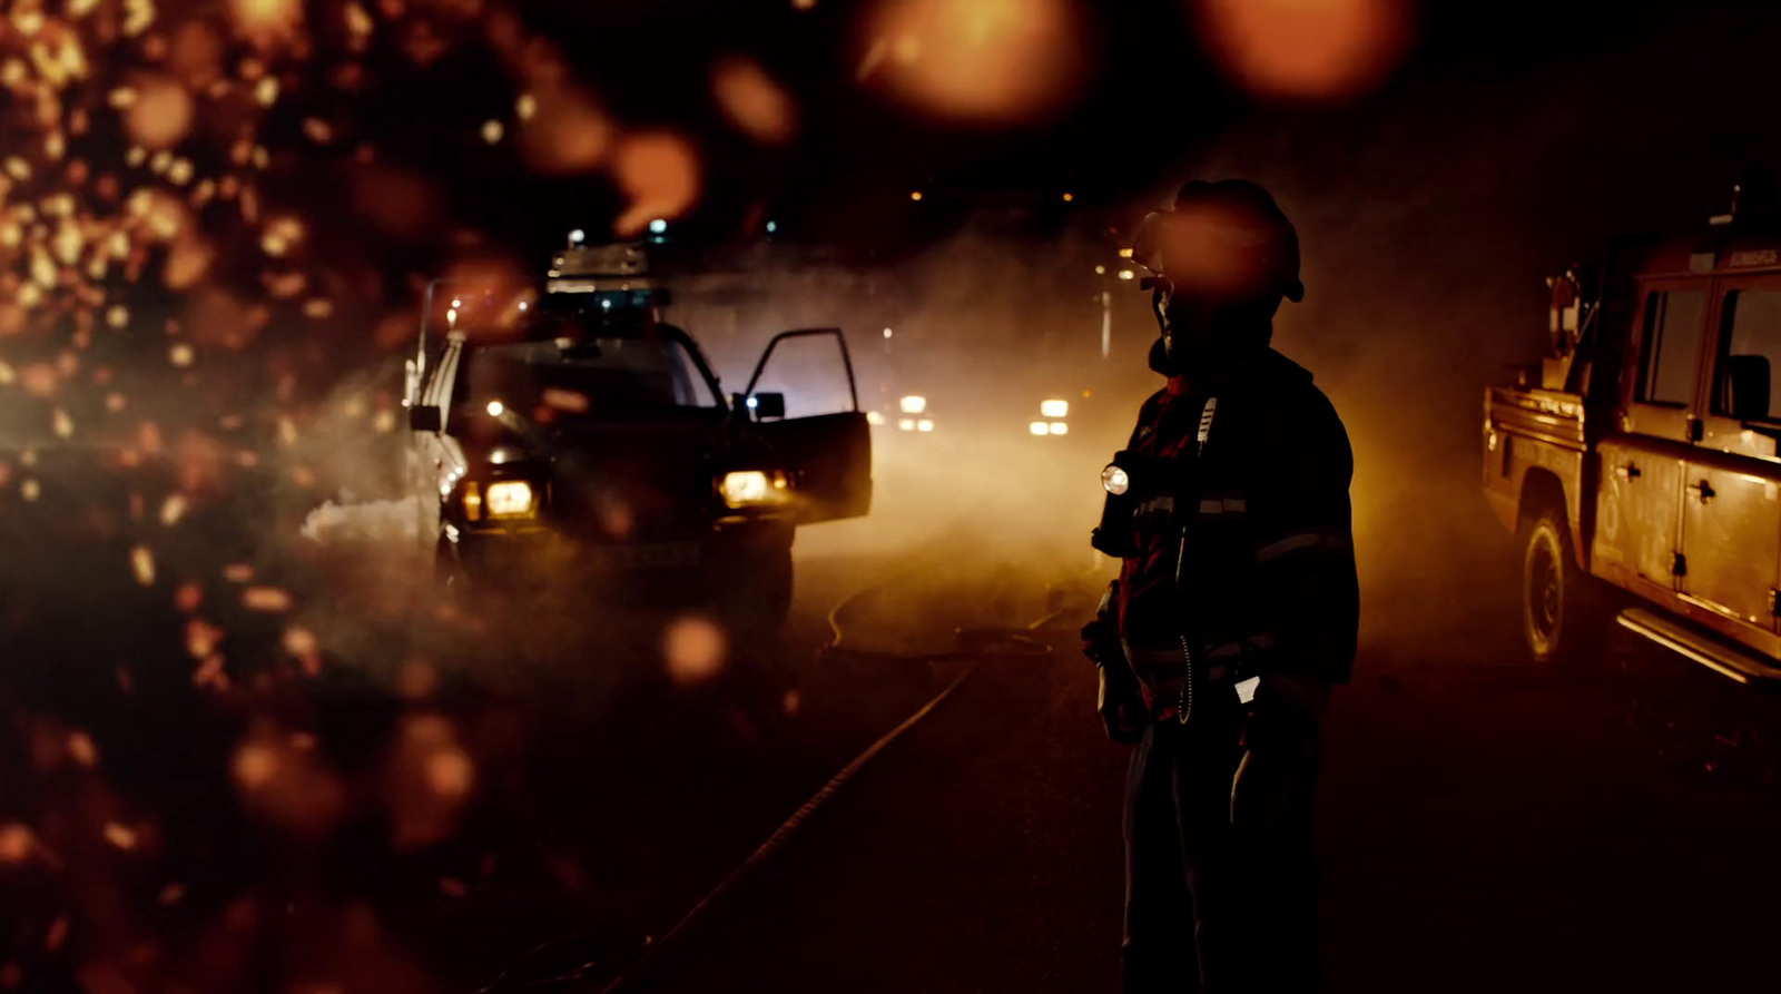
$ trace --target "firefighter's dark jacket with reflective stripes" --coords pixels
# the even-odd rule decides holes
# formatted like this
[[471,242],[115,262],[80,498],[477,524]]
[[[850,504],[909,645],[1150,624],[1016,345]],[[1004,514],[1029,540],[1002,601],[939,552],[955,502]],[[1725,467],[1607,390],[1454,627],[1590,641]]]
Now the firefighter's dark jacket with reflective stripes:
[[1266,351],[1170,379],[1127,452],[1131,549],[1117,588],[1126,657],[1154,709],[1186,659],[1213,677],[1346,682],[1359,623],[1348,435],[1311,372]]

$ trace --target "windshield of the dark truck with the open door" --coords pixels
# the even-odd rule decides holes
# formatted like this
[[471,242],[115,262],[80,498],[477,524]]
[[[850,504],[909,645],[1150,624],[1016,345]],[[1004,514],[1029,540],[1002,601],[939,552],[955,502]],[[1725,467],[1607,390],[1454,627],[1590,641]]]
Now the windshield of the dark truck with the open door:
[[500,404],[541,422],[718,406],[698,363],[671,338],[483,346],[465,354],[459,387],[470,410]]

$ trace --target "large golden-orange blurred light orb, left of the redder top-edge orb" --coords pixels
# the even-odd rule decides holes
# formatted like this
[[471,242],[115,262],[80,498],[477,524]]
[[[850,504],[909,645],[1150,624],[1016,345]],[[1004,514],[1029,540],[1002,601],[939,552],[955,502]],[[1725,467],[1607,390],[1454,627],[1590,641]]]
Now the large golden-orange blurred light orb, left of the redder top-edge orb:
[[1072,0],[882,0],[857,75],[940,118],[1021,123],[1067,103],[1083,61]]

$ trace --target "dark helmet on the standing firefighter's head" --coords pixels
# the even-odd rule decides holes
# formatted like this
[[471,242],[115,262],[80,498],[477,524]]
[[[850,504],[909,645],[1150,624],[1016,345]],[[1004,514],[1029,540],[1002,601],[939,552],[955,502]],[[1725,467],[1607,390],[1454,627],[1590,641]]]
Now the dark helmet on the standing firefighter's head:
[[1172,210],[1143,219],[1133,262],[1174,292],[1222,299],[1305,297],[1298,280],[1298,232],[1281,205],[1248,180],[1193,180]]

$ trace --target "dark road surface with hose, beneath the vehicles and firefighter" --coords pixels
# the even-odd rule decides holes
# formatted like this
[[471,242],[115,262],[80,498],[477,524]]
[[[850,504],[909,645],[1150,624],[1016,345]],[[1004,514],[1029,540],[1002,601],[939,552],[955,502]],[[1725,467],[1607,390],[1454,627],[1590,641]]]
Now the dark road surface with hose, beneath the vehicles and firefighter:
[[[965,542],[816,549],[784,638],[693,670],[677,613],[479,627],[399,565],[69,559],[71,586],[0,613],[0,989],[598,989],[949,677],[819,663],[837,599],[889,584],[850,640],[923,652],[1067,575]],[[1615,631],[1535,670],[1507,540],[1475,566],[1414,607],[1370,591],[1327,725],[1330,989],[1774,989],[1781,702]],[[1111,989],[1124,750],[1069,625],[1049,638],[978,670],[647,987]]]

